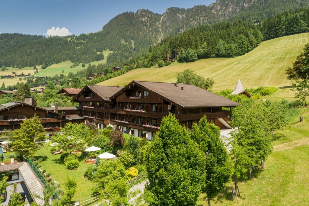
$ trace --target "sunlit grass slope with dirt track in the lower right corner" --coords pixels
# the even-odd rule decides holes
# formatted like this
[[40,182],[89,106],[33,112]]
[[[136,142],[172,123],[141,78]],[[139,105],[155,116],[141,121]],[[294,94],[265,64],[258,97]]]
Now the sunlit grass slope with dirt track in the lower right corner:
[[[252,180],[239,182],[240,197],[232,201],[233,183],[211,201],[212,205],[309,205],[309,111],[306,122],[299,117],[284,130],[276,131],[274,150],[265,162],[264,170]],[[197,205],[207,205],[202,194]]]

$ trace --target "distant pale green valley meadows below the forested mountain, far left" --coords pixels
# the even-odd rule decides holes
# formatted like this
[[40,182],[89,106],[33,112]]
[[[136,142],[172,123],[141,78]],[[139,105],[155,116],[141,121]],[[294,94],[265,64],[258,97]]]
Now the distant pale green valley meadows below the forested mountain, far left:
[[[91,62],[92,65],[97,65],[99,63],[106,63],[106,58],[108,56],[108,54],[112,53],[112,51],[103,51],[104,54],[104,59],[101,61],[95,61],[95,62]],[[35,70],[33,69],[33,67],[24,67],[22,69],[18,69],[18,68],[12,68],[12,67],[7,67],[7,71],[0,71],[0,76],[1,75],[12,75],[12,72],[16,72],[17,74],[21,74],[23,72],[23,74],[28,74],[30,73],[33,76],[54,76],[54,75],[60,75],[62,73],[62,70],[64,70],[63,74],[64,75],[68,75],[69,72],[77,72],[80,71],[82,69],[86,69],[88,67],[88,64],[86,64],[85,68],[82,67],[82,64],[79,64],[77,67],[75,68],[70,68],[70,66],[72,66],[73,63],[70,61],[66,61],[66,62],[61,62],[58,64],[53,64],[45,69],[41,69],[41,65],[37,66],[38,68],[38,73],[35,73]],[[6,86],[9,85],[14,85],[19,81],[19,78],[13,78],[13,79],[0,79],[0,83],[2,84],[4,82],[4,84]],[[19,81],[19,82],[26,82],[26,80]]]

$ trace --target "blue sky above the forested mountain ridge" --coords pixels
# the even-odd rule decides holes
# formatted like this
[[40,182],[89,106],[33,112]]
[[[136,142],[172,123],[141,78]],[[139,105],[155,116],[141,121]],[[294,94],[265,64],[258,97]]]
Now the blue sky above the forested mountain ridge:
[[[192,8],[215,0],[0,0],[0,31],[43,35],[52,27],[73,34],[96,32],[125,11],[149,9],[162,14],[175,6]],[[62,31],[62,30],[61,30]]]

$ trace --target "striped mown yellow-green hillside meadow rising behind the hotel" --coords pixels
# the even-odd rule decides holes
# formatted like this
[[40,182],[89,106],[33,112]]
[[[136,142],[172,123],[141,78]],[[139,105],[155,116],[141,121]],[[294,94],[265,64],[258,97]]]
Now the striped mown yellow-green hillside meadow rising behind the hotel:
[[212,77],[215,80],[213,90],[234,89],[240,78],[245,88],[259,86],[279,87],[279,94],[290,95],[290,80],[286,78],[285,70],[292,66],[309,42],[309,33],[284,36],[263,41],[251,52],[236,58],[201,59],[191,63],[173,63],[168,67],[141,68],[101,82],[98,85],[121,85],[134,80],[176,82],[176,73],[184,69],[192,69],[197,73]]

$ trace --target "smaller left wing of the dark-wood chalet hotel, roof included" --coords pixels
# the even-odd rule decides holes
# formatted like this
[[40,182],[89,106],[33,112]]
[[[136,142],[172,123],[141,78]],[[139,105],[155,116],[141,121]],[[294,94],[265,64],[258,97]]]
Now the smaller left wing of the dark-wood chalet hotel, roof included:
[[78,102],[83,108],[82,116],[90,122],[95,122],[98,128],[104,129],[109,124],[110,97],[123,87],[87,85],[72,102]]

